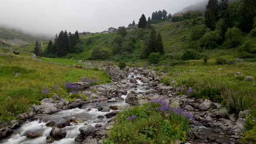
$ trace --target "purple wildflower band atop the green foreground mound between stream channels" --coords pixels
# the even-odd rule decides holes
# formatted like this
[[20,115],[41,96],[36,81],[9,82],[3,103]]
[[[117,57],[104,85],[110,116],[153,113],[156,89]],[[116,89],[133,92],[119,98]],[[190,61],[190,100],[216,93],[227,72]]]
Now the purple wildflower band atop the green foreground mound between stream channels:
[[194,120],[193,115],[190,114],[190,112],[184,111],[184,109],[182,109],[182,108],[170,108],[169,105],[167,104],[167,102],[162,99],[155,99],[155,100],[152,100],[150,103],[151,104],[152,103],[160,104],[161,106],[157,107],[157,111],[161,111],[164,114],[174,113],[176,115],[181,115],[188,119],[191,119],[192,121]]

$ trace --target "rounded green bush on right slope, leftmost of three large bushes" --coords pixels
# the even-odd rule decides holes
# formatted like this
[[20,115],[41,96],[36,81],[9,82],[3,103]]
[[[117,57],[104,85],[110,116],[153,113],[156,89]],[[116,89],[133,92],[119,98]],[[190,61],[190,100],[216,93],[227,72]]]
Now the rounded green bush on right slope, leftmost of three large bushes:
[[203,24],[192,26],[190,30],[190,40],[200,39],[207,31],[209,31],[209,29]]

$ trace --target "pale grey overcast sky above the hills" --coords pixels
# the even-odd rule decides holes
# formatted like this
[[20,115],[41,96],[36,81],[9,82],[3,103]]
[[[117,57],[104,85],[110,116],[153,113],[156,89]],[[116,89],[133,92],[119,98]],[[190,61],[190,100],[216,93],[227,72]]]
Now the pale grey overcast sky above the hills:
[[0,0],[0,25],[29,33],[55,35],[60,30],[102,32],[138,23],[141,14],[175,13],[202,0]]

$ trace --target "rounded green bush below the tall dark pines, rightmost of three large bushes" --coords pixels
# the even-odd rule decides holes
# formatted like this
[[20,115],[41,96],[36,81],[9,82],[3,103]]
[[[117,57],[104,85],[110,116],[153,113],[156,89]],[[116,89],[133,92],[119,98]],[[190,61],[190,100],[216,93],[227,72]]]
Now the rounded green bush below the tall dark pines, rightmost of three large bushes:
[[243,43],[243,32],[236,28],[228,28],[225,34],[225,41],[223,46],[227,49],[235,48],[236,46],[240,46]]

